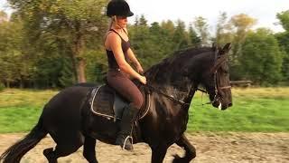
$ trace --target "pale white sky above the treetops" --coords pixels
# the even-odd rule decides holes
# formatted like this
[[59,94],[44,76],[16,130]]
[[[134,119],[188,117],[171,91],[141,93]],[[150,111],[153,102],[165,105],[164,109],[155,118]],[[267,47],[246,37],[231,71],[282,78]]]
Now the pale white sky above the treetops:
[[[215,31],[217,20],[221,12],[226,12],[228,17],[235,14],[248,14],[257,19],[257,27],[266,27],[274,32],[283,32],[283,28],[276,19],[276,14],[289,10],[289,0],[126,0],[131,10],[135,13],[129,18],[133,24],[135,16],[144,14],[148,23],[162,22],[163,20],[178,19],[187,25],[195,17],[202,16],[210,25],[210,32]],[[0,0],[0,9],[11,13],[5,7],[6,0]]]

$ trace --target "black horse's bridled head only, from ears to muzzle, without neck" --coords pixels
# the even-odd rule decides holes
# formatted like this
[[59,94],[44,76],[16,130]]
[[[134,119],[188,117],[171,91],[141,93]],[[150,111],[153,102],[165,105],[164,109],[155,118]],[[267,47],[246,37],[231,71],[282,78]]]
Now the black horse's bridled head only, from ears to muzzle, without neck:
[[210,101],[214,107],[226,110],[232,106],[231,87],[228,73],[228,51],[230,43],[223,48],[213,47],[210,54],[210,65],[207,65],[201,77],[201,83],[210,94]]

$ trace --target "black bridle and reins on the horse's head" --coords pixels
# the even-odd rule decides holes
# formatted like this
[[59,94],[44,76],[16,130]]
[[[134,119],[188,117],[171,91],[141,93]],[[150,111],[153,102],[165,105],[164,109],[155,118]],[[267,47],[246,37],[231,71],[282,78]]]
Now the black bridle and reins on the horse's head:
[[[206,104],[211,104],[211,103],[213,103],[213,102],[215,102],[215,101],[219,101],[219,103],[221,103],[221,102],[220,102],[221,96],[219,95],[219,94],[220,94],[219,91],[225,90],[225,89],[230,89],[230,88],[231,88],[230,85],[229,85],[229,86],[220,86],[218,69],[219,69],[220,65],[222,65],[223,62],[225,62],[225,61],[227,60],[227,56],[224,54],[223,56],[221,56],[221,57],[218,58],[218,53],[219,53],[219,50],[218,50],[218,48],[216,48],[216,50],[215,50],[215,58],[214,58],[214,62],[215,62],[215,63],[214,63],[213,69],[212,69],[213,72],[214,72],[215,96],[214,96],[214,99],[213,99],[212,101],[207,102]],[[219,61],[219,62],[218,62],[218,61]],[[159,90],[155,89],[155,88],[154,88],[152,85],[150,85],[149,83],[146,83],[146,84],[144,85],[144,87],[147,87],[149,90],[155,91],[155,92],[163,95],[164,97],[170,99],[171,101],[175,101],[175,102],[181,104],[181,105],[184,106],[184,107],[188,107],[188,106],[190,106],[190,104],[191,104],[191,103],[189,103],[189,102],[180,101],[180,100],[178,100],[178,99],[175,99],[172,95],[170,96],[170,95],[168,95],[168,94],[163,93],[162,91],[159,91]],[[201,90],[201,89],[199,89],[199,88],[197,88],[197,87],[193,87],[193,88],[190,90],[189,95],[192,94],[192,92],[194,92],[194,91],[201,91],[201,92],[204,92],[204,93],[207,93],[207,94],[208,94],[208,91],[204,91],[204,90]]]

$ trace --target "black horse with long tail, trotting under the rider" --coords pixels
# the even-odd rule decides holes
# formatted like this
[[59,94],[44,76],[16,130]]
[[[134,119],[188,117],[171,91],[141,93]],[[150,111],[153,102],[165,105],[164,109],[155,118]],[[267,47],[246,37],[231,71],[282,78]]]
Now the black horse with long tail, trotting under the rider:
[[[147,143],[153,153],[152,162],[163,162],[167,149],[176,143],[186,153],[175,156],[173,162],[190,162],[196,157],[195,148],[184,136],[189,119],[191,99],[201,85],[210,95],[210,103],[221,110],[232,105],[228,77],[229,43],[223,48],[189,48],[174,53],[145,72],[151,91],[150,109],[138,120],[138,138],[134,143]],[[22,140],[16,142],[0,157],[4,163],[20,162],[23,155],[47,133],[56,142],[55,149],[44,149],[50,163],[65,157],[84,145],[83,156],[90,163],[96,158],[97,139],[115,144],[117,123],[97,116],[89,109],[88,94],[92,87],[79,84],[67,88],[49,101],[42,115]]]

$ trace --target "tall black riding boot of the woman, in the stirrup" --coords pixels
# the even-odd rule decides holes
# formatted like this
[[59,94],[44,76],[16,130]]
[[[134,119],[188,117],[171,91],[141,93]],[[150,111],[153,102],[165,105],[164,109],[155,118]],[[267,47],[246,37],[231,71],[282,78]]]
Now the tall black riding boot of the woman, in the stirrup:
[[123,113],[122,120],[120,120],[120,131],[117,135],[116,144],[120,145],[122,149],[132,150],[133,145],[130,141],[131,139],[131,130],[133,128],[133,123],[135,117],[138,113],[138,109],[129,105]]

